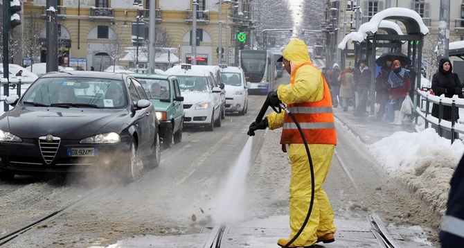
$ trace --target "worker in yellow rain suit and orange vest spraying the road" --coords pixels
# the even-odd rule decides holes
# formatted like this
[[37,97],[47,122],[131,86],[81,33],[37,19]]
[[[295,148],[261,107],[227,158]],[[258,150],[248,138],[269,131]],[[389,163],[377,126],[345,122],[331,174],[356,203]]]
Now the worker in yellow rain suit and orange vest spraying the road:
[[[334,232],[337,230],[332,206],[322,187],[337,145],[332,100],[327,82],[321,71],[312,65],[307,51],[307,46],[300,39],[292,39],[285,46],[283,56],[278,61],[283,62],[285,70],[290,74],[290,83],[280,85],[277,91],[271,91],[267,96],[270,105],[277,107],[281,101],[294,114],[305,134],[314,166],[312,213],[301,235],[289,247],[311,247],[316,242],[333,242]],[[278,245],[283,247],[302,227],[310,206],[310,163],[303,139],[288,114],[272,112],[260,123],[251,123],[248,134],[253,136],[255,130],[267,127],[271,130],[283,127],[280,143],[283,151],[288,152],[292,164],[289,186],[292,233],[290,239],[278,240]]]

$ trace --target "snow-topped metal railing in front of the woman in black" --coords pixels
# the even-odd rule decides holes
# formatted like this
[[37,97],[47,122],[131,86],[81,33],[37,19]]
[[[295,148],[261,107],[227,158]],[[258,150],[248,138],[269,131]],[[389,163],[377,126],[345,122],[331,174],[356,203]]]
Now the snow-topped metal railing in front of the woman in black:
[[[416,107],[416,113],[418,117],[424,119],[425,128],[428,128],[429,124],[436,125],[436,127],[438,127],[438,135],[440,136],[442,136],[442,130],[450,131],[451,143],[453,143],[455,139],[458,139],[458,137],[455,136],[455,132],[464,134],[464,124],[455,121],[459,109],[464,108],[464,100],[456,102],[456,98],[434,96],[430,94],[429,91],[424,91],[422,89],[418,89],[417,92],[420,105]],[[438,105],[438,118],[432,116],[430,113],[431,105],[434,104]],[[443,120],[443,106],[452,107],[452,121]]]

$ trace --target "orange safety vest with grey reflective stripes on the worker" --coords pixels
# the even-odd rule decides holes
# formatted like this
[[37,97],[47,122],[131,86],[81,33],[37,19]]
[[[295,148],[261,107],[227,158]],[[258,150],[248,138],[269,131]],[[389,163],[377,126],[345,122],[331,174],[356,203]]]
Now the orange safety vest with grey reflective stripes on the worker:
[[[298,64],[290,76],[290,83],[292,85],[295,83],[296,71],[305,65],[314,67],[311,62]],[[295,116],[296,121],[300,124],[308,144],[337,145],[337,133],[335,132],[330,90],[327,82],[325,82],[325,78],[323,76],[321,77],[324,82],[324,96],[321,100],[312,103],[306,102],[288,104],[287,109]],[[303,143],[298,127],[296,127],[296,124],[287,113],[285,113],[284,117],[280,143]]]

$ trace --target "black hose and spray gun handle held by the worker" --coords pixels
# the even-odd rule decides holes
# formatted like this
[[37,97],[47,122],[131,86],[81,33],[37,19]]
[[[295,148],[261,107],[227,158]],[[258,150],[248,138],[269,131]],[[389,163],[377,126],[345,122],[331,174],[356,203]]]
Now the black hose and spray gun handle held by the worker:
[[298,230],[298,232],[295,234],[295,236],[291,240],[289,240],[289,242],[286,245],[283,246],[283,248],[288,248],[289,245],[292,245],[292,243],[298,238],[298,236],[300,236],[301,232],[303,232],[303,229],[305,229],[308,220],[310,220],[310,216],[311,216],[311,212],[312,212],[312,206],[314,205],[314,188],[315,188],[315,186],[314,186],[314,166],[312,165],[310,148],[307,145],[305,134],[303,134],[303,130],[301,130],[300,123],[298,123],[298,121],[296,121],[295,116],[292,114],[292,112],[289,112],[289,110],[287,109],[285,104],[283,104],[282,102],[279,102],[278,103],[278,109],[277,109],[276,107],[274,107],[274,105],[271,105],[269,103],[269,100],[266,98],[265,103],[262,105],[261,110],[258,113],[258,116],[256,116],[256,120],[255,120],[256,123],[260,123],[262,121],[262,118],[265,116],[269,106],[271,106],[272,109],[274,109],[274,111],[277,112],[277,113],[282,112],[282,109],[283,109],[285,111],[285,113],[287,113],[290,116],[290,118],[292,118],[292,120],[295,123],[296,127],[298,127],[298,132],[300,132],[301,138],[303,139],[303,143],[305,143],[307,159],[308,159],[308,161],[310,161],[310,171],[311,171],[311,201],[310,201],[310,207],[307,210],[305,221],[303,222],[303,224],[301,224],[301,227]]

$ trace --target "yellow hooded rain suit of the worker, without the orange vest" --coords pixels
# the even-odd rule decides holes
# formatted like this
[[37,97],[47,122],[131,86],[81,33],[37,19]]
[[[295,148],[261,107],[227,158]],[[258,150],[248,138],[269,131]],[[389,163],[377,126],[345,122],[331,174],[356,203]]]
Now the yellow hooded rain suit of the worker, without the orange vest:
[[[296,64],[310,62],[307,46],[298,39],[285,46],[283,56],[292,64],[292,71]],[[300,67],[296,71],[294,84],[280,85],[277,90],[278,98],[285,104],[319,101],[323,98],[323,80],[318,69],[311,66]],[[285,112],[267,115],[269,129],[283,127]],[[314,205],[310,220],[300,236],[293,242],[295,246],[314,245],[318,237],[326,233],[335,233],[334,212],[323,190],[323,183],[328,175],[335,145],[308,144],[314,166]],[[301,228],[311,200],[311,173],[304,143],[286,144],[289,162],[291,163],[292,178],[290,179],[289,214],[292,239]]]

